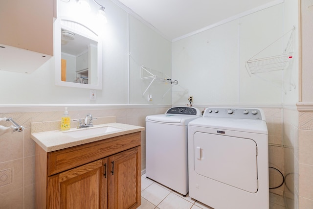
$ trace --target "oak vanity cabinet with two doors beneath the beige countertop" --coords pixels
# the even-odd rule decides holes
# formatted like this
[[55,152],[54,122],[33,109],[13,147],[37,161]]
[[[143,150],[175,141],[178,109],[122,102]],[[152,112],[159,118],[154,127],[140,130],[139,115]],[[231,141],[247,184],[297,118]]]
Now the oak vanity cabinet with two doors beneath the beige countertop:
[[36,207],[139,207],[140,143],[136,132],[48,153],[36,144]]

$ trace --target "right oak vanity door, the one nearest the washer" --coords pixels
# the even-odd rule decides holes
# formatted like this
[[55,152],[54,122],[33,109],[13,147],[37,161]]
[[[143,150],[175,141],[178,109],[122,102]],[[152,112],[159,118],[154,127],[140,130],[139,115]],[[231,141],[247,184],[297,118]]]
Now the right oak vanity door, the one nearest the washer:
[[108,209],[135,209],[141,204],[141,146],[108,158]]

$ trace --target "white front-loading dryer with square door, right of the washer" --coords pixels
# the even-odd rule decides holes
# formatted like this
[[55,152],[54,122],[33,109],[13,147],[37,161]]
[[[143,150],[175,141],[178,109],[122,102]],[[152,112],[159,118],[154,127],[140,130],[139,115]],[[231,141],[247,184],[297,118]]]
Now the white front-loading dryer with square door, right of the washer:
[[215,209],[268,209],[262,109],[206,108],[188,125],[189,196]]

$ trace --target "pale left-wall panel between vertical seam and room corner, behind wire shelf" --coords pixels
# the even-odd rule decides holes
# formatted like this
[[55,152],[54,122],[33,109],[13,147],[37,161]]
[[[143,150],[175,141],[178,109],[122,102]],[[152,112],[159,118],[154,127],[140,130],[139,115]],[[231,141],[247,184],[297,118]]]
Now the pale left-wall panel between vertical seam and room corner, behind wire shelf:
[[152,79],[141,80],[141,66],[171,76],[171,42],[132,16],[129,24],[130,103],[147,103],[150,94],[149,104],[171,104],[170,84],[154,81],[149,87]]

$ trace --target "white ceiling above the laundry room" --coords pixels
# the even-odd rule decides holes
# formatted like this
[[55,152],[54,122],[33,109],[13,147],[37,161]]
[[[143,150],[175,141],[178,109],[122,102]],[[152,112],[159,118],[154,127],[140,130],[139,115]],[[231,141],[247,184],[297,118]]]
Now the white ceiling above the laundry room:
[[170,41],[284,0],[113,0]]

